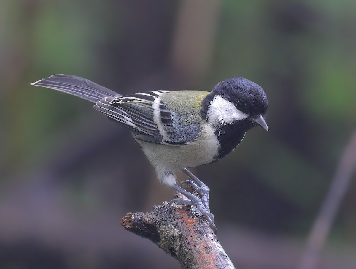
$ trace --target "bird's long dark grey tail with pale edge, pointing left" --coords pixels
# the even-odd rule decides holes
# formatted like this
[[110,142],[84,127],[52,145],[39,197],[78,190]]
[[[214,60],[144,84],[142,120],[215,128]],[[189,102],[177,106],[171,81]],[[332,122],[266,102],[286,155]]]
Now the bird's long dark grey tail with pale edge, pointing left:
[[64,93],[78,96],[92,103],[96,103],[104,97],[122,96],[121,94],[91,82],[88,79],[64,74],[52,75],[49,78],[43,78],[33,82],[31,85],[59,90]]

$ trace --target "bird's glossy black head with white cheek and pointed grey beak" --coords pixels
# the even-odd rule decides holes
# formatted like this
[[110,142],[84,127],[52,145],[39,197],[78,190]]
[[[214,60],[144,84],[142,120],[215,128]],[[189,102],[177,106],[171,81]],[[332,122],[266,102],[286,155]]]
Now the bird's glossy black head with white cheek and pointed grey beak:
[[267,96],[261,86],[236,77],[215,85],[203,101],[201,114],[215,127],[242,121],[247,129],[259,125],[268,131],[263,118],[267,107]]

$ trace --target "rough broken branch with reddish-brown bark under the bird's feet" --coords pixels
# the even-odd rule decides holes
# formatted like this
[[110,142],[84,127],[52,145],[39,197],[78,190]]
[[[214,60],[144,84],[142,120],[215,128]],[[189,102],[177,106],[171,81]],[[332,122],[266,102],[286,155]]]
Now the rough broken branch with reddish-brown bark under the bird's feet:
[[[182,195],[177,197],[184,198]],[[208,222],[192,206],[164,202],[148,213],[128,213],[121,225],[178,260],[182,268],[235,268]]]

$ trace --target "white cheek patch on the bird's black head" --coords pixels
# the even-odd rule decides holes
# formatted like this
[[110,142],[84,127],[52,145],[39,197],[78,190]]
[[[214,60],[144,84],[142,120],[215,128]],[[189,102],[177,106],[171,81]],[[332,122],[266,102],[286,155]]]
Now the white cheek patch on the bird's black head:
[[248,115],[238,110],[233,103],[220,95],[215,95],[208,110],[209,121],[214,125],[233,123],[237,120],[247,119]]

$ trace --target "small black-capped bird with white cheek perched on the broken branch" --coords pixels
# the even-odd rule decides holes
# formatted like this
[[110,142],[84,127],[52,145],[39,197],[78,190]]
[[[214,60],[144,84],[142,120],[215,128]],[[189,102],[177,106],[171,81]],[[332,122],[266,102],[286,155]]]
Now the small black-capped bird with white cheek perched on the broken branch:
[[[268,101],[261,86],[234,77],[215,84],[210,92],[153,90],[121,95],[88,79],[55,74],[31,83],[75,95],[94,103],[107,118],[129,129],[156,170],[158,180],[187,199],[170,203],[194,205],[213,231],[210,189],[189,167],[210,164],[225,157],[255,126],[268,131]],[[177,184],[177,172],[188,176]],[[196,190],[199,197],[182,186]]]

